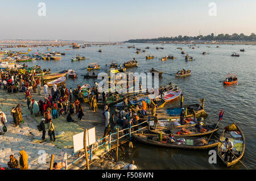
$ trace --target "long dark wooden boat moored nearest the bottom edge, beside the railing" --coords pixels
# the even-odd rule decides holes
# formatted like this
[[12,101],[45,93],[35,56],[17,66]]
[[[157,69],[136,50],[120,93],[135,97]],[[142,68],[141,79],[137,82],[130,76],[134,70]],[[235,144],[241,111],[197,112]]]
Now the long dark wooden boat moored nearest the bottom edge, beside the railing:
[[[195,150],[205,150],[218,146],[218,141],[210,139],[206,145],[197,144],[203,138],[198,137],[179,137],[175,138],[175,143],[170,143],[167,141],[167,137],[163,136],[163,141],[158,140],[159,134],[140,134],[134,133],[133,137],[135,140],[142,142],[147,145],[163,146],[167,148],[181,148],[181,149],[195,149]],[[206,139],[204,139],[207,141]],[[179,142],[180,141],[180,142]],[[183,142],[183,144],[181,143]]]

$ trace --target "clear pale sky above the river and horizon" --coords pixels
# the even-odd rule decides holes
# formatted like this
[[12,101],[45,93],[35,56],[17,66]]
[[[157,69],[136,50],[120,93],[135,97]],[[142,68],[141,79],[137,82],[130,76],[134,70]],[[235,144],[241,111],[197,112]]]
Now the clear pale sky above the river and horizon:
[[[46,16],[38,16],[38,3]],[[209,16],[210,2],[217,16]],[[255,0],[0,1],[0,40],[125,41],[209,33],[256,33]]]

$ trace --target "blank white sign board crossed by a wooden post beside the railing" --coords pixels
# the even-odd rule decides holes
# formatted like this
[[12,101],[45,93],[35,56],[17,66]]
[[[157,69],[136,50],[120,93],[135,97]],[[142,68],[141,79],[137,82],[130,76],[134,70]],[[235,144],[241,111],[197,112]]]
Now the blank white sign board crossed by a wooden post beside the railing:
[[[73,148],[74,148],[74,153],[76,151],[79,151],[81,149],[84,149],[84,133],[81,132],[76,135],[73,135]],[[87,131],[87,137],[86,137],[86,145],[90,146],[96,142],[96,131],[95,127],[88,129]]]

